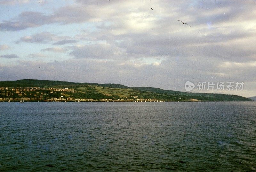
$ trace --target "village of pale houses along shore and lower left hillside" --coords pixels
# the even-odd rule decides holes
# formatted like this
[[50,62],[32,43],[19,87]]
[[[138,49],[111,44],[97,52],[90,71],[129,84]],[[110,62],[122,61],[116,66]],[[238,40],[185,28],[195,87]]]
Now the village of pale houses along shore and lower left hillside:
[[44,102],[165,102],[165,100],[157,99],[144,99],[138,98],[138,96],[130,96],[130,98],[74,98],[70,95],[75,93],[76,90],[70,88],[41,88],[41,87],[0,87],[0,102],[33,102],[33,101],[44,101]]

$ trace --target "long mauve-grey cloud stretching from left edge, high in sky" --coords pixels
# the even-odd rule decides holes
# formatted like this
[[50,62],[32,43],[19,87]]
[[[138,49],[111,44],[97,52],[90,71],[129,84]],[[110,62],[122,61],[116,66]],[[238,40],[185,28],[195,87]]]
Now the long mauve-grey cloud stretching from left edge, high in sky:
[[[83,17],[81,17],[83,16]],[[45,24],[81,23],[97,18],[97,12],[85,6],[67,6],[57,9],[53,14],[46,15],[41,12],[22,12],[11,20],[0,23],[2,31],[18,31],[29,27],[39,27]]]

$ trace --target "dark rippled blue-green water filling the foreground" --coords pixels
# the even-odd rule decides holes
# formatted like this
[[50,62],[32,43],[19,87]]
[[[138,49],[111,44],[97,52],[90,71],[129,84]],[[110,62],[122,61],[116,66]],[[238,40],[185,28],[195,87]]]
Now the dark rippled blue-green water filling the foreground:
[[0,171],[256,171],[256,102],[0,103]]

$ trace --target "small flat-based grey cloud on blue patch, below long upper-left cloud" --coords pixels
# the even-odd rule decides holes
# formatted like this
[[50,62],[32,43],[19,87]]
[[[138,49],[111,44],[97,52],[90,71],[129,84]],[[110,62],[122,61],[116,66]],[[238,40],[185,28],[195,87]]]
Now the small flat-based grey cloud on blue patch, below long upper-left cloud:
[[51,43],[52,41],[58,41],[61,39],[70,38],[69,36],[57,36],[50,32],[41,32],[38,34],[23,36],[20,40],[15,43],[26,42],[26,43]]

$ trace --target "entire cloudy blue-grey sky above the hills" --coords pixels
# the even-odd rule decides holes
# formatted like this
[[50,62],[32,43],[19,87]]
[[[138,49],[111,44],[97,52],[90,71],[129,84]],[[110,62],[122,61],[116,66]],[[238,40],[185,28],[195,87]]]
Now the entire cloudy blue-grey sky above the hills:
[[256,96],[255,16],[255,0],[0,0],[0,81],[244,82],[192,92]]

